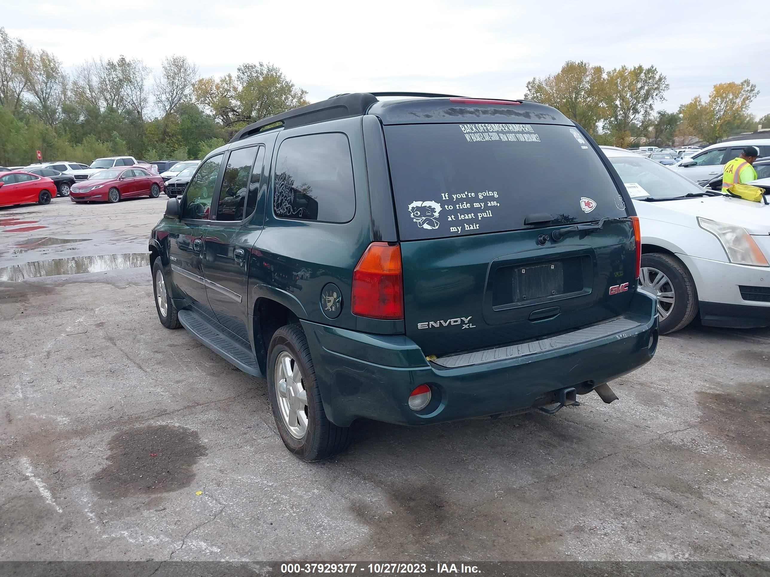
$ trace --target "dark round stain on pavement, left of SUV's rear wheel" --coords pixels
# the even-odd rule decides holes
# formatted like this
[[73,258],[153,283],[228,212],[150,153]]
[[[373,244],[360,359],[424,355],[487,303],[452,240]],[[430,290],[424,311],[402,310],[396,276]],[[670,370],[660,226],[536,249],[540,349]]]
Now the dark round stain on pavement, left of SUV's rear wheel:
[[91,479],[91,488],[102,499],[189,487],[198,459],[206,456],[197,432],[171,425],[119,432],[110,439],[108,448],[108,464]]

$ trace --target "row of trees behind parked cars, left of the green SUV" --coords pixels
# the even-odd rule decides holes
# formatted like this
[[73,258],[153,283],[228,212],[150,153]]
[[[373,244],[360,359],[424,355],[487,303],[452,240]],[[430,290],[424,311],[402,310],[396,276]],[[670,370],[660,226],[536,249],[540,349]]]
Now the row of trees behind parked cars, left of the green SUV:
[[125,56],[92,58],[68,75],[55,55],[0,28],[0,164],[28,164],[37,150],[44,160],[79,162],[124,154],[200,158],[238,124],[307,103],[306,92],[273,65],[244,64],[220,81],[219,91],[238,107],[233,120],[223,106],[197,98],[197,67],[184,56],[164,58],[154,76]]

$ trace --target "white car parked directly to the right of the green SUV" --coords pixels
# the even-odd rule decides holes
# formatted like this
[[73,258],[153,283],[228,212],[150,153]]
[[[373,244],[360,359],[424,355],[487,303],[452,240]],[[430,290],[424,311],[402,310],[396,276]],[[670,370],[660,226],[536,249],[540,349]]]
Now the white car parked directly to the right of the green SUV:
[[623,148],[602,146],[641,224],[640,288],[658,296],[661,333],[770,325],[770,205],[733,198]]

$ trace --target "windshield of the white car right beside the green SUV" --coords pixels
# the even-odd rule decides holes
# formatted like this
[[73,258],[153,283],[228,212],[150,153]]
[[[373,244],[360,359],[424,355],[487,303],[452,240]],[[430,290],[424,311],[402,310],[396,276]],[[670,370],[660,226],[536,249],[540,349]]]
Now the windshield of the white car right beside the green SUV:
[[694,182],[647,158],[611,156],[610,162],[631,198],[674,198],[688,193],[703,193],[703,188]]

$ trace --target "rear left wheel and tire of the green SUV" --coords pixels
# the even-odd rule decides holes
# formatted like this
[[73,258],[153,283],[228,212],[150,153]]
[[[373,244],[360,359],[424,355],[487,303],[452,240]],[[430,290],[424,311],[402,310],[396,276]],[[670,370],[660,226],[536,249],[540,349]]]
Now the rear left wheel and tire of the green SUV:
[[[283,366],[291,369],[290,375],[294,379],[285,379],[289,371],[282,369]],[[297,376],[300,383],[296,383]],[[281,384],[288,380],[292,382],[289,386],[284,384],[285,392],[282,394]],[[267,352],[267,389],[283,444],[303,461],[329,459],[350,444],[350,427],[338,427],[326,419],[310,348],[299,325],[281,327],[270,340]],[[296,420],[285,416],[293,412],[292,407],[300,407],[295,411],[298,416]],[[292,428],[290,422],[296,422],[296,427]]]

